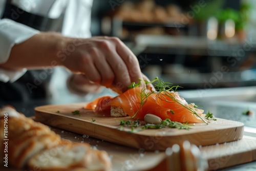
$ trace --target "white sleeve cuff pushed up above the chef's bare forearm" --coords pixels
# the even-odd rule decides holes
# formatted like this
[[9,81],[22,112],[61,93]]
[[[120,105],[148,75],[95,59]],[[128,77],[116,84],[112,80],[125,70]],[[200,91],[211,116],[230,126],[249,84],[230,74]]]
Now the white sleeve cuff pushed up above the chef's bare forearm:
[[39,31],[10,19],[0,19],[0,63],[5,63],[15,44],[29,39]]

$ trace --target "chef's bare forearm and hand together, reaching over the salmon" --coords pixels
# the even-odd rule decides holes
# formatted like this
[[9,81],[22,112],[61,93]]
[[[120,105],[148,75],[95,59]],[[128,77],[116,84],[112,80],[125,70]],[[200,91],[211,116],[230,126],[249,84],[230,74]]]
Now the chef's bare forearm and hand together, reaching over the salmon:
[[0,65],[8,70],[55,66],[65,66],[90,82],[121,92],[143,78],[136,56],[116,37],[78,39],[42,32],[14,45],[8,60]]

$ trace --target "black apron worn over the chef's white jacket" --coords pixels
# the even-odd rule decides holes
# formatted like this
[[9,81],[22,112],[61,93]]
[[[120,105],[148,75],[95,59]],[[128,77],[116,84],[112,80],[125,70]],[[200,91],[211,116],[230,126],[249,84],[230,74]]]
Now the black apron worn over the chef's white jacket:
[[[60,32],[62,28],[64,12],[59,18],[48,18],[26,12],[7,0],[2,18],[12,19],[17,23],[27,25],[39,31]],[[31,70],[13,83],[0,81],[0,104],[8,101],[31,101],[51,97],[49,81],[51,72],[47,70]]]

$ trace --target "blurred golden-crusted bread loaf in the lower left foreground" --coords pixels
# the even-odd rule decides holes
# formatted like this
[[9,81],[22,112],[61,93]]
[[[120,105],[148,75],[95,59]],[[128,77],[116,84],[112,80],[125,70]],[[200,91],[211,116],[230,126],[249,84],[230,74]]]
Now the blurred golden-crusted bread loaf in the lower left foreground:
[[[2,152],[3,141],[7,139],[4,136],[4,125],[8,125],[8,163],[12,166],[29,167],[32,170],[111,169],[111,161],[106,152],[91,149],[88,143],[62,140],[48,126],[25,117],[11,106],[0,109]],[[3,160],[3,153],[0,157]]]

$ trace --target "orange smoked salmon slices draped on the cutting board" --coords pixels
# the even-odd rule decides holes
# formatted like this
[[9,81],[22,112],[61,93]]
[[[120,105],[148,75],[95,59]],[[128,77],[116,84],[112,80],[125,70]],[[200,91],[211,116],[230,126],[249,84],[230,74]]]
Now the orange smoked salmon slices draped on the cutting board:
[[201,118],[203,110],[195,108],[194,104],[188,104],[179,96],[178,92],[149,93],[141,105],[142,88],[132,88],[116,97],[103,96],[88,103],[84,108],[94,112],[110,114],[111,106],[119,106],[124,113],[134,119],[144,120],[146,114],[154,114],[162,120],[169,118],[181,123],[204,122]]

